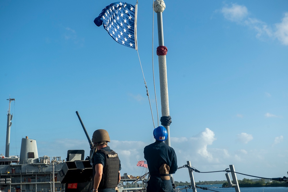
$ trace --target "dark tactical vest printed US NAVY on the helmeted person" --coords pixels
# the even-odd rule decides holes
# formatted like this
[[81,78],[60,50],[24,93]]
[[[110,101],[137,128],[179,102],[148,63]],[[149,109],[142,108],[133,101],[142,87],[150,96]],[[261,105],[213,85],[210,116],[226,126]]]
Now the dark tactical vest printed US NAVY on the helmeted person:
[[103,175],[98,189],[115,188],[119,180],[119,158],[115,151],[111,152],[100,149],[97,153],[104,153],[106,164],[103,167]]

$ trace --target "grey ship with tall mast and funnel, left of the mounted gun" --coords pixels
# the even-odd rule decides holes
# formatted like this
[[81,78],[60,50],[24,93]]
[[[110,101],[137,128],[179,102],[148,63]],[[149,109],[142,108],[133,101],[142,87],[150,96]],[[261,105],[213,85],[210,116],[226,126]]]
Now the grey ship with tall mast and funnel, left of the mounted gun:
[[61,157],[44,155],[38,157],[37,143],[28,136],[22,138],[20,157],[9,155],[10,127],[12,115],[10,103],[7,114],[7,134],[5,155],[0,155],[0,190],[1,192],[52,192],[61,191],[63,184],[57,180],[57,175],[63,164]]

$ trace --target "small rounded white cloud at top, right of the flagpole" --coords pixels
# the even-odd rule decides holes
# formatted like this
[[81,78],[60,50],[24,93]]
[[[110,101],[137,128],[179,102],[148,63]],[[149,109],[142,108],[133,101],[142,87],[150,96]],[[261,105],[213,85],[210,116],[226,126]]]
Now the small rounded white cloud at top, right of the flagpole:
[[221,9],[221,12],[223,13],[224,17],[231,21],[241,21],[248,15],[248,10],[245,6],[232,4],[231,7],[223,7]]

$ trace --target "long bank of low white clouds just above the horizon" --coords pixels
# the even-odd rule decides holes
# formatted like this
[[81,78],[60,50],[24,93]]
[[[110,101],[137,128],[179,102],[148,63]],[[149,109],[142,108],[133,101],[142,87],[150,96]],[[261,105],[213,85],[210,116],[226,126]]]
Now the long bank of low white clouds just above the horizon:
[[[242,136],[243,142],[252,139],[252,136],[247,133],[241,133],[239,136]],[[143,138],[140,137],[135,139],[143,140]],[[146,140],[147,142],[111,140],[111,142],[108,143],[111,149],[116,151],[120,157],[122,166],[122,170],[120,171],[121,174],[128,173],[135,176],[145,174],[146,168],[136,166],[136,164],[137,161],[144,160],[144,147],[151,142],[154,142],[154,139]],[[283,142],[283,140],[283,136],[278,136],[275,138],[274,143],[280,143]],[[175,149],[178,166],[183,166],[187,164],[187,161],[190,161],[191,165],[199,171],[208,172],[225,170],[226,168],[229,168],[229,165],[234,164],[236,170],[239,172],[241,170],[243,173],[249,173],[252,170],[255,174],[257,173],[257,175],[260,175],[265,174],[265,171],[264,173],[261,173],[265,167],[277,163],[275,157],[278,157],[279,154],[283,155],[282,159],[287,159],[286,154],[288,153],[285,153],[285,150],[283,151],[283,149],[277,148],[269,150],[269,146],[265,146],[265,144],[263,146],[265,147],[265,150],[247,145],[247,149],[249,149],[249,151],[247,151],[247,149],[237,149],[237,147],[232,145],[223,145],[223,148],[215,147],[220,142],[220,140],[219,142],[217,141],[215,132],[209,128],[206,128],[199,134],[189,138],[171,137],[171,146]],[[53,155],[66,158],[67,150],[71,149],[84,149],[85,155],[88,156],[90,151],[86,139],[77,140],[61,138],[58,140],[49,140],[49,142],[43,142],[41,140],[37,142],[37,144],[39,156],[48,155],[52,157]],[[231,151],[229,150],[229,147]],[[232,149],[235,150],[233,151]],[[273,167],[270,171],[273,171],[274,169],[277,169],[277,167]],[[281,172],[281,168],[278,168],[277,172]],[[190,181],[187,168],[177,170],[176,174],[173,176],[176,181]],[[219,180],[219,178],[220,180],[226,179],[223,172],[213,174],[194,173],[194,177],[197,181]],[[241,176],[239,175],[239,177]]]

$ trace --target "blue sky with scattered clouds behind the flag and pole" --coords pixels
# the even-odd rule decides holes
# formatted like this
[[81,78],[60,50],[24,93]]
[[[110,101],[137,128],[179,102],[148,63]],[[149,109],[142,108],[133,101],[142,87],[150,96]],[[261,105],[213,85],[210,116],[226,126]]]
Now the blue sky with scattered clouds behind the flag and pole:
[[[93,20],[108,1],[0,2],[0,153],[5,154],[9,98],[10,155],[21,138],[36,139],[39,156],[66,158],[108,130],[122,174],[141,175],[153,122],[137,51],[116,43]],[[135,5],[136,1],[126,1]],[[138,4],[138,51],[157,123],[152,74],[153,1]],[[178,166],[266,178],[287,176],[288,1],[166,0],[164,43],[171,146]],[[156,14],[154,71],[159,118]],[[250,178],[237,175],[238,179]],[[195,180],[226,180],[224,172]],[[182,168],[176,181],[189,181]]]

